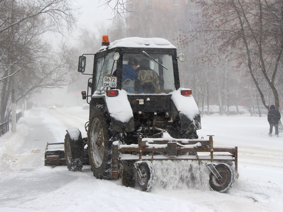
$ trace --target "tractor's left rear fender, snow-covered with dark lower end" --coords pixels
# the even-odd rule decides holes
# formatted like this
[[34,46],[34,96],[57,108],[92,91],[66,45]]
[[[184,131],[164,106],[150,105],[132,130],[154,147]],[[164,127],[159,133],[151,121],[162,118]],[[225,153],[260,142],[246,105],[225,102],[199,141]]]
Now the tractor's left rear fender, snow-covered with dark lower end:
[[108,97],[106,94],[94,93],[92,98],[102,98],[111,117],[113,132],[130,132],[134,130],[134,115],[127,92],[118,90],[118,96]]

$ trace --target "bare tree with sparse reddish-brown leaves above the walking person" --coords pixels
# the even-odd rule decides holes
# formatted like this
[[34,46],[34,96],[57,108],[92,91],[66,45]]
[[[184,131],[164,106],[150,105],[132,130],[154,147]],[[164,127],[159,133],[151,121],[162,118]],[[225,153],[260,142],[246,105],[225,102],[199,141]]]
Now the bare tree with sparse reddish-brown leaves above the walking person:
[[[183,44],[195,38],[204,41],[206,60],[217,62],[220,54],[231,54],[238,64],[245,64],[261,101],[266,104],[260,87],[263,76],[272,90],[276,108],[279,95],[275,86],[283,51],[282,1],[199,0],[203,21],[195,31],[187,32]],[[204,58],[204,57],[203,57]],[[227,57],[226,57],[227,58]]]

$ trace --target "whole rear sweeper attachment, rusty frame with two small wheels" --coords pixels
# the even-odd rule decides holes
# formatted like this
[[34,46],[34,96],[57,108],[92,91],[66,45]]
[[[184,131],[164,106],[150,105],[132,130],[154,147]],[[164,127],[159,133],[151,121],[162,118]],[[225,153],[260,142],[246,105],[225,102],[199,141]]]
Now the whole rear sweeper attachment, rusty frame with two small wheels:
[[208,136],[209,140],[174,139],[163,130],[151,138],[140,136],[138,144],[121,145],[115,141],[112,145],[112,177],[121,178],[125,186],[137,184],[142,191],[150,191],[155,180],[153,160],[196,160],[210,170],[210,188],[227,192],[235,177],[238,178],[238,149],[236,146],[213,146],[213,135]]

